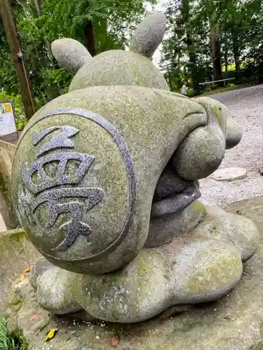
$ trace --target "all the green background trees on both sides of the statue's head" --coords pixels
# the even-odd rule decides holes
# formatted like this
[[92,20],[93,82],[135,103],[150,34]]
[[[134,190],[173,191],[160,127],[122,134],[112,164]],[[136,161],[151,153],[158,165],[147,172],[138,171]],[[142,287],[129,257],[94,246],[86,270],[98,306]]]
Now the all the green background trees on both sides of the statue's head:
[[[145,15],[145,2],[11,1],[39,106],[67,92],[73,77],[53,59],[53,40],[71,37],[88,47],[91,32],[93,53],[123,49]],[[235,84],[263,83],[262,0],[168,0],[166,16],[168,34],[161,52],[161,70],[173,91],[180,91],[187,80],[191,94],[198,94],[198,83],[215,80],[220,74],[235,77]],[[91,28],[88,33],[87,26]],[[0,69],[1,89],[19,99],[20,88],[1,20]],[[15,109],[20,109],[16,102]]]

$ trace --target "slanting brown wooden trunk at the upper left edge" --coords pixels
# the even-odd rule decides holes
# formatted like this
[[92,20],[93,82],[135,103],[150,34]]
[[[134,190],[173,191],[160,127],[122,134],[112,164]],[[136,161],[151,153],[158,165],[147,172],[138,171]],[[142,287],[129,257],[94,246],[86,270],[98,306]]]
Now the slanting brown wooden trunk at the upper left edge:
[[34,92],[29,82],[29,77],[25,69],[25,62],[22,57],[20,42],[18,39],[18,31],[15,27],[15,20],[11,12],[9,0],[0,0],[0,13],[6,29],[6,37],[10,46],[13,64],[20,83],[22,103],[25,107],[25,115],[29,120],[36,113],[36,102]]

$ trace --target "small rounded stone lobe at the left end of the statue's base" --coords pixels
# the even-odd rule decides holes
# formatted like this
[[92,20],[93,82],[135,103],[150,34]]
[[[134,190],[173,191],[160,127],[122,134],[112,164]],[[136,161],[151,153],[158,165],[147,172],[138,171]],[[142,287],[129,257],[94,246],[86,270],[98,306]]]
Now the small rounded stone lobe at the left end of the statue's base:
[[49,267],[36,279],[37,301],[52,314],[69,314],[81,311],[77,302],[81,293],[80,274],[60,267]]

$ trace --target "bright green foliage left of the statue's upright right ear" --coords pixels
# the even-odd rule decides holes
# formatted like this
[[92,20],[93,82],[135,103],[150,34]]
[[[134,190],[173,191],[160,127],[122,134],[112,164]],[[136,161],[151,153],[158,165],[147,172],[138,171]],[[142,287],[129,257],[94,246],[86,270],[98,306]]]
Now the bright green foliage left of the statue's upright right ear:
[[[144,0],[20,0],[12,1],[29,78],[39,106],[67,92],[72,74],[53,59],[50,43],[62,37],[88,45],[91,23],[96,54],[125,48],[130,31],[145,13]],[[148,0],[154,3],[155,0]],[[0,20],[0,87],[20,94],[10,50]]]

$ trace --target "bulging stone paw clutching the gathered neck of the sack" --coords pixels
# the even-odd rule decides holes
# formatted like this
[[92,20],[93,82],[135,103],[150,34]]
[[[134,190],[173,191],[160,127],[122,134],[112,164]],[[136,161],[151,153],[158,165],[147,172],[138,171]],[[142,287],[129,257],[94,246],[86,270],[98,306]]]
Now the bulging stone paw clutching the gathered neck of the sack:
[[[220,102],[209,97],[193,100],[207,111],[207,126],[191,132],[172,158],[177,174],[188,181],[202,179],[215,172],[227,147],[227,128],[238,128],[234,120],[229,119],[228,109]],[[192,150],[196,151],[193,153]]]

